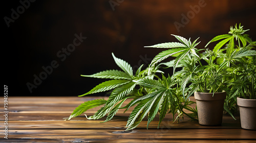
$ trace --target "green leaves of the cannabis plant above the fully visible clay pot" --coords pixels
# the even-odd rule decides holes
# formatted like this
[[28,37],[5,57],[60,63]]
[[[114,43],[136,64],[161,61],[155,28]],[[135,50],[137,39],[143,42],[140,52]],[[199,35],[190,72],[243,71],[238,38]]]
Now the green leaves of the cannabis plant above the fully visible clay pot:
[[[197,49],[196,46],[200,42],[190,41],[181,36],[173,35],[177,38],[178,42],[161,43],[146,47],[158,47],[158,48],[170,48],[170,50],[159,53],[153,60],[151,65],[161,62],[169,56],[176,55],[174,61],[174,72],[176,66],[181,62],[183,68],[177,71],[182,75],[181,88],[184,93],[185,88],[189,85],[189,96],[194,91],[200,92],[219,92],[225,87],[225,81],[222,80],[222,75],[218,72],[220,66],[215,64],[214,56],[220,52],[214,52],[206,49],[204,53],[199,53],[201,49]],[[190,60],[185,60],[190,59]],[[201,63],[204,60],[206,65]]]

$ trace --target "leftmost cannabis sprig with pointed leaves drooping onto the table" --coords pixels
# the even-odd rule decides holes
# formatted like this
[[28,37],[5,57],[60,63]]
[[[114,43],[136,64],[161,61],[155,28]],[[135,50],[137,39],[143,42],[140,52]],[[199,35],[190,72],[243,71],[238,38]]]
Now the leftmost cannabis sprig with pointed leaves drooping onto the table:
[[[136,71],[136,74],[134,75],[133,68],[129,63],[115,57],[113,53],[112,53],[112,56],[114,58],[115,63],[122,69],[122,71],[113,69],[113,70],[104,70],[93,75],[81,75],[82,77],[111,79],[111,80],[102,82],[99,85],[95,86],[90,91],[79,96],[79,97],[83,97],[92,93],[113,90],[110,94],[109,99],[108,100],[97,99],[97,100],[88,101],[79,105],[70,115],[68,120],[70,120],[72,117],[80,115],[81,113],[87,111],[88,109],[91,109],[100,105],[104,105],[93,116],[89,116],[88,119],[96,120],[108,114],[108,117],[104,121],[104,122],[107,122],[107,121],[110,121],[112,117],[117,113],[118,109],[122,106],[125,100],[140,96],[138,94],[132,94],[132,91],[135,89],[135,86],[136,86],[136,82],[134,82],[134,80],[138,80],[147,76],[146,75],[147,72],[142,72],[141,74],[141,68],[143,65],[141,65],[138,68],[138,70]],[[140,92],[143,92],[143,91],[140,91]]]

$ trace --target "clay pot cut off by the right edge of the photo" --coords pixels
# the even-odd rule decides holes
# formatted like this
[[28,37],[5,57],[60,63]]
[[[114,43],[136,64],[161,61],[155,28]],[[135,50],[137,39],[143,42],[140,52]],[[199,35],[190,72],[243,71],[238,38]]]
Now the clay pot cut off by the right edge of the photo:
[[237,98],[240,110],[241,127],[256,130],[256,100]]

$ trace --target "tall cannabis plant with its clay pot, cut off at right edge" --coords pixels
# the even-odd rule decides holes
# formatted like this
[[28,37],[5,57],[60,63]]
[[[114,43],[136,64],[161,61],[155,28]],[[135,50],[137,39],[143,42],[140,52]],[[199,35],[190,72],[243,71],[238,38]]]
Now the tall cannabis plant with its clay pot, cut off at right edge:
[[[229,77],[231,77],[228,78],[230,80],[230,92],[227,101],[237,100],[237,105],[240,109],[241,127],[255,130],[256,51],[251,50],[255,46],[255,41],[253,42],[247,34],[244,34],[246,31],[248,30],[243,30],[241,24],[239,27],[236,25],[234,28],[230,27],[230,35],[217,36],[216,40],[222,38],[222,43],[229,40],[229,49],[226,50],[226,53],[221,53],[219,56],[219,62],[222,62],[221,66],[228,66],[223,72],[228,73]],[[234,40],[238,41],[237,45],[234,44]],[[232,106],[233,104],[233,102],[229,102],[229,105]]]

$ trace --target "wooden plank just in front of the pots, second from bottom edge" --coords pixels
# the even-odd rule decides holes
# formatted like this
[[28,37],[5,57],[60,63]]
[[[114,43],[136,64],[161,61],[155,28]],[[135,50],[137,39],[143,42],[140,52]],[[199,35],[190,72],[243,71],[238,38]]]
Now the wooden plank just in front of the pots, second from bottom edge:
[[59,138],[81,138],[81,139],[256,139],[256,131],[244,129],[135,129],[130,132],[122,130],[95,130],[95,129],[44,129],[44,130],[8,130],[10,139],[59,139]]

